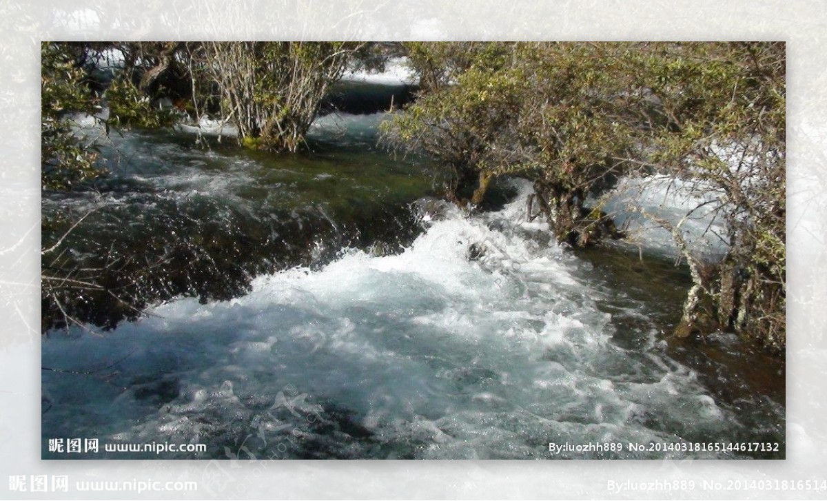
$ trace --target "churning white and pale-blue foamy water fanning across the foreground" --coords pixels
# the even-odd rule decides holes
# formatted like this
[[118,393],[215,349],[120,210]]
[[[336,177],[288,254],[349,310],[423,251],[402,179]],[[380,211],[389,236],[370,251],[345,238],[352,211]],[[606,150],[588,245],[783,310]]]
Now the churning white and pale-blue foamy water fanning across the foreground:
[[691,371],[611,343],[575,258],[539,246],[534,223],[502,224],[523,210],[454,212],[399,255],[345,251],[232,301],[179,299],[103,337],[46,340],[44,365],[126,358],[108,380],[45,374],[44,437],[201,441],[227,456],[299,430],[288,456],[545,457],[552,437],[737,427]]

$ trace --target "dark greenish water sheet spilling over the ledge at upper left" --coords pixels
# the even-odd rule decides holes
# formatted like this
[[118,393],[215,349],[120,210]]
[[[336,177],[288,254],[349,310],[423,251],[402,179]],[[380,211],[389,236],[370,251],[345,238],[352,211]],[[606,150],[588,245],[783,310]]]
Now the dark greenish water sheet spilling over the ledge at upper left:
[[328,117],[302,155],[239,150],[232,137],[205,139],[205,149],[187,132],[113,132],[101,147],[111,175],[44,197],[44,246],[85,219],[43,266],[55,277],[84,270],[70,278],[127,301],[59,290],[44,302],[45,327],[65,323],[61,308],[113,327],[179,295],[236,297],[254,276],[323,263],[346,246],[398,250],[416,231],[407,204],[431,178],[422,162],[376,150],[382,117]]

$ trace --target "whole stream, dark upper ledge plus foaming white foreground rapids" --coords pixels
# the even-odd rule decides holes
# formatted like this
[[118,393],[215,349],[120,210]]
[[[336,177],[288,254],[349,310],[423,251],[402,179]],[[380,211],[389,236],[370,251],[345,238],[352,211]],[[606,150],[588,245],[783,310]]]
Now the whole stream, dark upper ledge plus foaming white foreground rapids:
[[[65,259],[136,255],[155,303],[50,330],[45,457],[783,457],[783,365],[724,334],[667,341],[686,270],[566,251],[527,222],[519,180],[490,212],[412,204],[427,166],[371,146],[380,118],[330,117],[300,156],[128,133],[98,193],[44,199],[45,241],[96,208]],[[67,455],[58,437],[207,451]],[[628,446],[710,441],[781,445]]]

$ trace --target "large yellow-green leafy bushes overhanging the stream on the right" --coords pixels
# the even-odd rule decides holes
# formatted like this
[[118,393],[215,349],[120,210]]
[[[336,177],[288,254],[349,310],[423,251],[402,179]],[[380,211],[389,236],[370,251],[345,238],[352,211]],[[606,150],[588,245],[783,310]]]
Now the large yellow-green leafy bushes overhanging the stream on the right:
[[526,176],[529,209],[558,240],[583,246],[619,236],[586,203],[621,175],[689,180],[696,196],[711,189],[719,197],[703,206],[729,231],[719,263],[693,255],[680,224],[656,221],[696,282],[677,330],[733,329],[783,348],[783,43],[407,46],[423,91],[385,137],[439,160],[448,198],[478,204],[492,177]]

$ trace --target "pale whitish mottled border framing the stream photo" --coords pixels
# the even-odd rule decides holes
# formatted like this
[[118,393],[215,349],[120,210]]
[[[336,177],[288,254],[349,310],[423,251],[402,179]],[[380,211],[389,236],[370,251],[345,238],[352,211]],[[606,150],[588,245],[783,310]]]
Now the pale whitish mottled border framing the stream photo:
[[[198,480],[179,493],[34,494],[36,499],[823,499],[791,490],[827,480],[825,313],[827,34],[825,6],[805,0],[457,2],[425,0],[65,0],[0,2],[0,498],[7,475]],[[41,40],[782,40],[787,42],[787,460],[784,461],[170,461],[40,460],[39,92]],[[822,281],[823,280],[823,281]],[[218,475],[218,476],[216,476]],[[221,480],[208,483],[207,478]],[[698,488],[610,493],[693,480]],[[786,490],[700,489],[756,480]],[[770,481],[770,482],[767,482]],[[209,487],[208,487],[209,485]],[[654,485],[653,485],[654,486]],[[734,484],[733,484],[734,486]],[[805,484],[801,484],[805,486]]]

